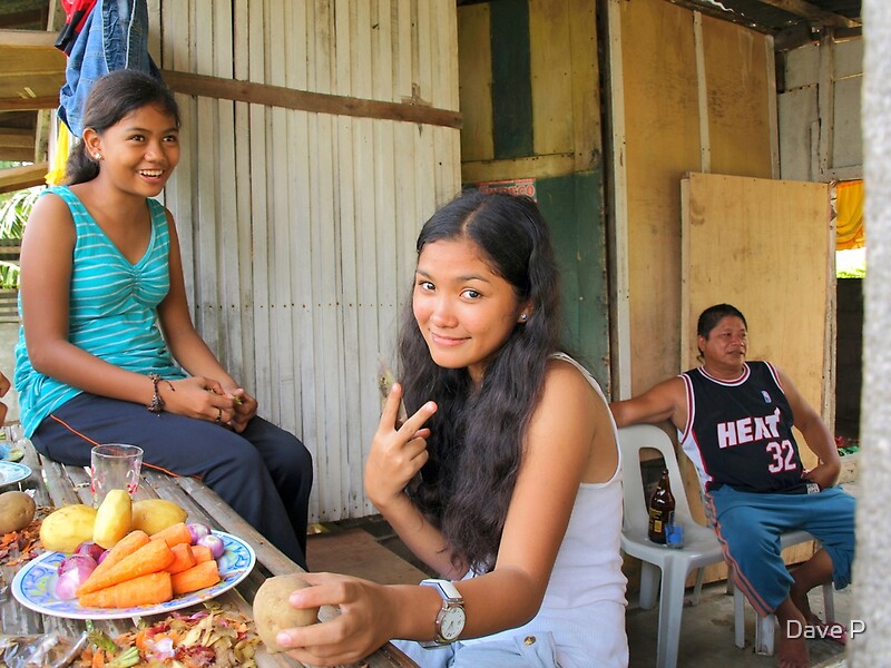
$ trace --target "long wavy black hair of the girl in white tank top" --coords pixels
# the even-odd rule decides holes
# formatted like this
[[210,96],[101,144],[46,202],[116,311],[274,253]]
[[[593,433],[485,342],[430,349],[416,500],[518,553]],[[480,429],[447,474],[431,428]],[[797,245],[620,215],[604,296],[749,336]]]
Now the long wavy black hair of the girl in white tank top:
[[437,212],[418,237],[427,244],[468,239],[490,268],[513,286],[529,317],[515,325],[473,390],[467,369],[443,369],[430,356],[405,306],[400,336],[401,379],[409,412],[433,400],[430,459],[414,492],[421,511],[442,531],[456,564],[490,570],[517,482],[528,421],[540,399],[548,356],[560,344],[559,272],[550,233],[527,197],[469,191]]

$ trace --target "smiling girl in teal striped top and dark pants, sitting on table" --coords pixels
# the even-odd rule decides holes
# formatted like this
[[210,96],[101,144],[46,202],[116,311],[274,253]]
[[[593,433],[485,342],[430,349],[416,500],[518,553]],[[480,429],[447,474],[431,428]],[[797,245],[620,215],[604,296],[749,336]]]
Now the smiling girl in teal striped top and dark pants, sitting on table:
[[179,160],[179,112],[136,70],[97,81],[67,185],[26,226],[14,383],[26,434],[88,465],[97,443],[200,478],[300,566],[312,459],[257,416],[192,322],[170,213],[153,199]]

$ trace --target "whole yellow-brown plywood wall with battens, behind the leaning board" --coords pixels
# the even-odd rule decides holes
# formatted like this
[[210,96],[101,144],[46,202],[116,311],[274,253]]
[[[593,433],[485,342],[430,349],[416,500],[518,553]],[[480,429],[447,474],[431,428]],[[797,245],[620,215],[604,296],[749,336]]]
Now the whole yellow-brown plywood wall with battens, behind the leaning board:
[[776,128],[768,37],[666,0],[608,8],[618,399],[683,371],[681,179],[771,178]]

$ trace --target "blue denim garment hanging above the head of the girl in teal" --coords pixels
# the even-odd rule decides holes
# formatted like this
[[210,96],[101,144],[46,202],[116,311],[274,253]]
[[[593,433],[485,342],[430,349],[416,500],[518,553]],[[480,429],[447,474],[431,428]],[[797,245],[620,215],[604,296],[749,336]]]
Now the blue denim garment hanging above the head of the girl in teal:
[[94,82],[119,69],[138,69],[160,78],[148,55],[146,0],[95,0],[84,19],[59,92],[59,118],[75,137],[84,134],[84,104]]

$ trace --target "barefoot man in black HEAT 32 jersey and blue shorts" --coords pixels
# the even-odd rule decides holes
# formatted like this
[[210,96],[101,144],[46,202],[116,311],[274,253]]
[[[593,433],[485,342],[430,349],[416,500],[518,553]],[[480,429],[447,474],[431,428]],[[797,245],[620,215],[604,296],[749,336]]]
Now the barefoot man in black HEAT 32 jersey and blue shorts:
[[[855,503],[834,487],[841,461],[820,415],[780,369],[746,362],[746,334],[737,308],[706,308],[697,324],[702,366],[610,410],[618,426],[674,423],[736,586],[758,615],[776,615],[779,666],[805,668],[805,635],[792,622],[825,626],[811,612],[807,592],[830,581],[836,589],[850,582]],[[802,466],[793,425],[820,460],[810,471]],[[796,529],[823,547],[790,573],[780,534]],[[838,638],[840,630],[828,637]]]

